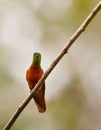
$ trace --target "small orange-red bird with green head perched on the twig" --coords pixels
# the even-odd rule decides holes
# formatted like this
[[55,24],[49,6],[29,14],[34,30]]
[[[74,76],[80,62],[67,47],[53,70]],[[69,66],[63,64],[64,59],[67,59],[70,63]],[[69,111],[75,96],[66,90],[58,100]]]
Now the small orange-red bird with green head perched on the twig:
[[[32,90],[41,76],[43,75],[43,70],[41,68],[41,54],[34,53],[32,64],[26,72],[26,80],[28,82],[30,90]],[[45,102],[45,82],[40,87],[38,93],[33,96],[35,104],[37,105],[38,111],[44,113],[46,111],[46,102]]]

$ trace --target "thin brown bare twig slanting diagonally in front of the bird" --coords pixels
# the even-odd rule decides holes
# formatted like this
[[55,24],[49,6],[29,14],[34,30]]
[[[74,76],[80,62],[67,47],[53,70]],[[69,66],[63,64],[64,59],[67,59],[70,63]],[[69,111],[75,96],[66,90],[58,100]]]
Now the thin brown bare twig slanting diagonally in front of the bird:
[[100,11],[100,9],[101,9],[101,1],[91,11],[91,13],[88,15],[88,17],[82,23],[82,25],[77,29],[77,31],[72,35],[72,37],[70,37],[66,46],[63,48],[63,50],[60,52],[60,54],[57,56],[57,58],[53,61],[53,63],[50,65],[50,67],[46,70],[46,72],[44,73],[42,78],[39,80],[39,82],[36,84],[35,88],[32,90],[32,92],[29,94],[29,96],[22,102],[22,104],[19,106],[19,108],[16,110],[16,112],[12,115],[12,117],[10,118],[8,123],[5,125],[3,130],[9,130],[11,128],[11,126],[14,124],[14,122],[16,121],[18,116],[21,114],[21,112],[24,110],[24,108],[27,106],[27,104],[32,99],[34,93],[38,92],[40,86],[43,84],[45,79],[51,73],[53,68],[57,65],[57,63],[61,60],[61,58],[68,52],[71,45],[79,37],[79,35],[85,30],[87,25],[91,22],[93,17]]

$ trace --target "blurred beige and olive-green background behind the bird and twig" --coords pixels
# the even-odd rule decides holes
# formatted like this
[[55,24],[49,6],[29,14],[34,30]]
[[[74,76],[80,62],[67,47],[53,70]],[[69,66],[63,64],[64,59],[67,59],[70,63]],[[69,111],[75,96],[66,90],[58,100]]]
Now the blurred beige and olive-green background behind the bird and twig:
[[[99,0],[0,1],[0,130],[28,96],[32,55],[44,71]],[[46,80],[47,111],[33,100],[11,130],[101,130],[101,12]]]

